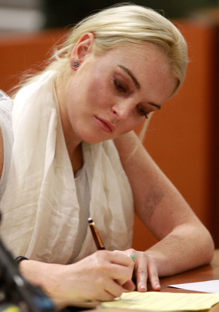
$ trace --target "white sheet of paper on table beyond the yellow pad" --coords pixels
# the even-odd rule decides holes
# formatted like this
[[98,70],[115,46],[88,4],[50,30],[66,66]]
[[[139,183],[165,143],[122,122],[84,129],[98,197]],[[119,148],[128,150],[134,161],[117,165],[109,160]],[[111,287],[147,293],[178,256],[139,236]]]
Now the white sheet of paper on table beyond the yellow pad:
[[219,293],[219,280],[207,280],[204,282],[176,284],[168,286],[186,290],[202,291],[208,293]]

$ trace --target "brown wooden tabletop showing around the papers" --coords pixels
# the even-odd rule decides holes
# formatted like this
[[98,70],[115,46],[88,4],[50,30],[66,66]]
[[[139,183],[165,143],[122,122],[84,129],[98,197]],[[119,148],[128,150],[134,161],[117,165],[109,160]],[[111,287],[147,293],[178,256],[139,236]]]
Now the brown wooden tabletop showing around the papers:
[[[192,282],[200,282],[206,280],[219,280],[219,249],[215,250],[214,258],[211,264],[200,266],[196,269],[186,271],[180,274],[176,274],[173,276],[162,277],[160,278],[160,286],[161,292],[172,292],[172,293],[198,293],[198,291],[191,291],[191,290],[183,290],[172,288],[167,285],[174,285],[174,284],[183,284],[183,283],[192,283]],[[151,287],[148,287],[149,291]],[[200,293],[200,292],[199,292]],[[106,309],[106,308],[97,308],[90,310],[94,311],[104,311],[104,312],[139,312],[139,310],[125,310],[125,309]],[[219,312],[219,303],[214,305],[210,310],[202,310],[202,312],[211,311],[211,312]],[[187,311],[188,312],[188,311]],[[197,311],[196,311],[197,312]]]

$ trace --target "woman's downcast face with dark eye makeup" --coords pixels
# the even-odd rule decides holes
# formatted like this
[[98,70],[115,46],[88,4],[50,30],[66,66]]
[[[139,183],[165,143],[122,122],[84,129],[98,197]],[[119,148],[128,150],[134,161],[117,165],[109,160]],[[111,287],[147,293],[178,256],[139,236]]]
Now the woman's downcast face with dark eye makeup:
[[167,57],[151,43],[89,53],[71,71],[61,114],[79,142],[98,143],[135,129],[176,88]]

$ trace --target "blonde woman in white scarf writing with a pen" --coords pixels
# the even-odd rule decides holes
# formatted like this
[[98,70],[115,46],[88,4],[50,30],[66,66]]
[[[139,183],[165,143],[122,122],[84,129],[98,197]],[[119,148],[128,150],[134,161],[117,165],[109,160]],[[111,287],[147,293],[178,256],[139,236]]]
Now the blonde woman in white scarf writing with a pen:
[[[122,5],[76,25],[13,110],[2,93],[1,235],[53,298],[113,300],[135,289],[133,271],[138,291],[147,279],[159,290],[159,276],[211,261],[209,232],[133,132],[179,90],[186,64],[171,22]],[[134,210],[159,240],[145,252],[130,249]]]

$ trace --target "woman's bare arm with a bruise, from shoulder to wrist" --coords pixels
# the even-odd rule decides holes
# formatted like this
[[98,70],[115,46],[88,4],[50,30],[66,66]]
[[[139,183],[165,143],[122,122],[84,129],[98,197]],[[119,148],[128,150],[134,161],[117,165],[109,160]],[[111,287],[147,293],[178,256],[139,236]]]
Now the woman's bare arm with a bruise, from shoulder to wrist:
[[[151,159],[136,134],[130,132],[114,141],[131,184],[135,212],[159,240],[145,252],[155,263],[158,275],[172,275],[211,262],[214,243],[210,233]],[[148,271],[141,266],[138,270]],[[152,275],[156,275],[154,269]],[[144,279],[145,276],[141,282]]]

